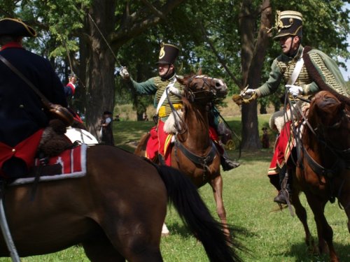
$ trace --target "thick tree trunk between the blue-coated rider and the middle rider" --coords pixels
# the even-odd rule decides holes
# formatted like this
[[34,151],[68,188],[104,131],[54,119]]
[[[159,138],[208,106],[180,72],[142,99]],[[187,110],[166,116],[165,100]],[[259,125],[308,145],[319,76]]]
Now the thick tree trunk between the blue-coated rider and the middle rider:
[[103,112],[106,110],[113,112],[114,109],[116,61],[104,38],[108,39],[106,34],[113,31],[115,4],[115,2],[95,0],[89,10],[93,21],[88,20],[90,50],[86,64],[86,84],[90,99],[86,111],[86,124],[88,131],[94,136],[97,136],[99,119]]

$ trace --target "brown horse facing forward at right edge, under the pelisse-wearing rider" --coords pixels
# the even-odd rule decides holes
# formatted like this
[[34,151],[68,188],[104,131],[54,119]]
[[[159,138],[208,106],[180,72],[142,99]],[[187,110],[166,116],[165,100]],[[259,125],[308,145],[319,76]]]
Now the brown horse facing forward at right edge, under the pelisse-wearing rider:
[[[314,213],[319,253],[330,253],[330,261],[338,261],[333,246],[332,228],[324,215],[325,204],[334,202],[344,208],[350,232],[350,121],[349,104],[340,102],[329,92],[318,92],[311,101],[309,125],[304,126],[300,154],[302,162],[293,180],[292,203],[302,221],[309,247],[314,248],[307,225],[307,213],[299,199],[303,191]],[[328,247],[328,249],[327,249]]]

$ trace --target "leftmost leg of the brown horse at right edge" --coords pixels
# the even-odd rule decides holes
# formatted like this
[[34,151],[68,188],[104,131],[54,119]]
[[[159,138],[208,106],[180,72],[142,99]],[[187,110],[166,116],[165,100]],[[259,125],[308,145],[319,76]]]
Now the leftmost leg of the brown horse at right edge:
[[307,212],[302,206],[302,203],[300,203],[299,194],[300,191],[297,191],[297,189],[294,188],[292,194],[292,203],[295,208],[295,214],[297,214],[297,218],[302,222],[302,226],[304,226],[305,242],[309,249],[309,252],[312,254],[317,254],[318,250],[314,244],[314,238],[312,238],[309,226],[307,224]]

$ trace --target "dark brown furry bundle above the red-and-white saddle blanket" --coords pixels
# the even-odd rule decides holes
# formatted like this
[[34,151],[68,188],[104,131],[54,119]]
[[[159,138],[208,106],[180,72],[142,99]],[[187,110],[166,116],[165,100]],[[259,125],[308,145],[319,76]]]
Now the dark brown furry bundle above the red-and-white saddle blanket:
[[66,133],[65,124],[59,119],[52,119],[43,131],[37,151],[42,152],[46,157],[59,155],[71,145],[64,133]]

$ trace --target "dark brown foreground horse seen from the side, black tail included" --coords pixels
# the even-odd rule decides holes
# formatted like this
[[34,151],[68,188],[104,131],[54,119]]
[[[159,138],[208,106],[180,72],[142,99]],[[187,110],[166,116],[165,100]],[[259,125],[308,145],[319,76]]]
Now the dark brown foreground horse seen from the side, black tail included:
[[[87,148],[84,177],[8,187],[4,205],[20,256],[81,244],[90,261],[162,261],[160,235],[171,201],[210,261],[240,261],[196,187],[179,170],[108,145]],[[233,245],[233,246],[232,246]],[[0,256],[8,256],[3,238]]]

